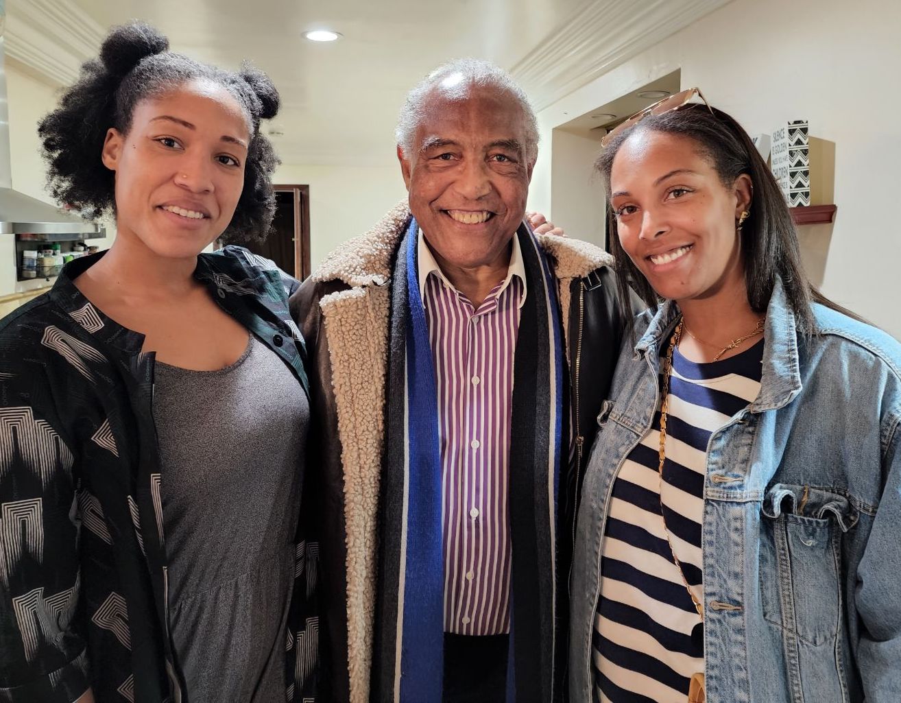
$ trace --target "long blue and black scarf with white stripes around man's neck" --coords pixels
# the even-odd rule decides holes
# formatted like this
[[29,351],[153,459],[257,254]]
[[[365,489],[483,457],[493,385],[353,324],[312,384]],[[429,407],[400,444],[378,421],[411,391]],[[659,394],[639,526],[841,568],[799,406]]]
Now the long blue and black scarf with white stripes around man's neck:
[[[387,452],[373,701],[440,703],[444,562],[432,347],[417,280],[418,225],[392,279]],[[532,232],[519,237],[528,295],[514,364],[510,523],[514,543],[507,700],[551,700],[557,494],[565,377],[556,280]]]

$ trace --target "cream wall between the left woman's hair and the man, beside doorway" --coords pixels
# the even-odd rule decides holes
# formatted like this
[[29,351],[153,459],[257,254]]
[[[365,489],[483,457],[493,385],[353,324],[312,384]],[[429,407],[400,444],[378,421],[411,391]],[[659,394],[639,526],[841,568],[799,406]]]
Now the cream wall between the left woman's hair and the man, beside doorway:
[[338,244],[365,233],[406,197],[394,154],[385,166],[283,164],[273,182],[310,187],[310,263],[315,270]]

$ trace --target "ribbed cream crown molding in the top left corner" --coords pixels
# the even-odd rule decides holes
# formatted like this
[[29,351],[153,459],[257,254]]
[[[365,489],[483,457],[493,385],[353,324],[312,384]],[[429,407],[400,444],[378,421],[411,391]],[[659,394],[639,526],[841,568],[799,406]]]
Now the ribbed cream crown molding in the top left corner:
[[53,86],[68,86],[96,57],[105,31],[72,0],[15,0],[6,5],[6,56]]

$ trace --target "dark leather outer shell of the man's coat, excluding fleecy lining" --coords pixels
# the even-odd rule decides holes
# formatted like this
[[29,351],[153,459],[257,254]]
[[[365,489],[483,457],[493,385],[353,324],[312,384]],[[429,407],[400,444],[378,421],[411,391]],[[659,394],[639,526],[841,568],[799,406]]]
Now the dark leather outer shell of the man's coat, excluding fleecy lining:
[[[400,226],[400,225],[397,225]],[[359,246],[359,243],[358,243]],[[357,269],[352,271],[358,275]],[[596,416],[607,397],[623,337],[623,320],[617,304],[617,287],[612,270],[601,267],[570,283],[569,304],[569,401],[573,415],[568,419],[575,438],[572,459],[562,469],[560,488],[560,529],[558,532],[558,629],[555,648],[555,698],[561,699],[566,686],[566,652],[569,635],[569,571],[572,561],[572,534],[577,515],[587,453],[596,434]],[[359,288],[380,288],[382,280]],[[302,520],[314,529],[319,545],[321,582],[317,589],[320,653],[323,676],[319,694],[323,699],[347,701],[348,627],[346,533],[341,465],[341,442],[335,397],[332,392],[331,350],[324,330],[320,301],[350,290],[341,280],[305,281],[291,299],[292,314],[303,330],[307,344],[308,370],[314,388],[313,422]],[[371,295],[371,291],[369,293]],[[369,308],[367,308],[369,309]],[[365,335],[364,335],[365,337]],[[361,348],[361,352],[364,351]],[[316,390],[318,389],[318,391]],[[566,436],[566,435],[565,435]],[[317,441],[320,438],[322,441]],[[537,644],[536,644],[537,645]]]

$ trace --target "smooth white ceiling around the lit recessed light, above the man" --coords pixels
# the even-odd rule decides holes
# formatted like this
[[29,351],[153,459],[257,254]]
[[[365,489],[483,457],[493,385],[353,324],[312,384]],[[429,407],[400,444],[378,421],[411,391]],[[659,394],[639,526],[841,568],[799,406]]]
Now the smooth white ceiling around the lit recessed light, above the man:
[[[394,160],[393,128],[406,91],[460,56],[513,66],[579,0],[77,0],[103,27],[132,17],[174,50],[234,68],[251,59],[273,79],[273,121],[285,163],[369,165]],[[301,35],[327,27],[339,41]]]

